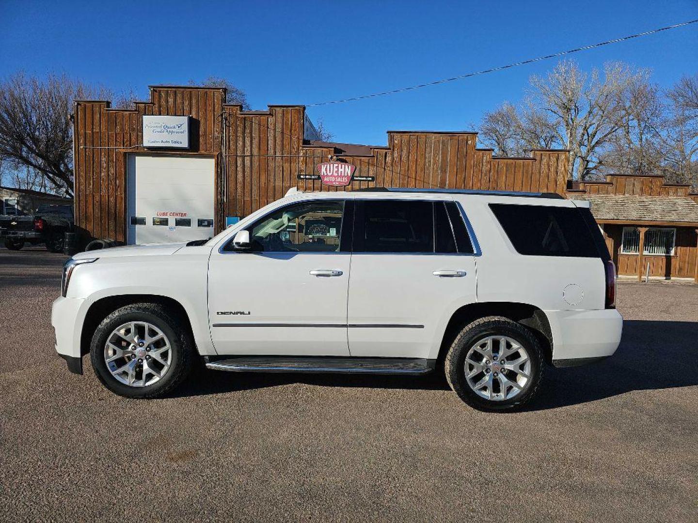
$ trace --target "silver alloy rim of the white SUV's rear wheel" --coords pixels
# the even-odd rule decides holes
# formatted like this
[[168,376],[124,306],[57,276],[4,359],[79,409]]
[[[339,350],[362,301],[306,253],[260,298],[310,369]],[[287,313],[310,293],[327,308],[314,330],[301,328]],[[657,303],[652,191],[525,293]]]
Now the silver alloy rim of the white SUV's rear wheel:
[[530,379],[530,358],[521,344],[507,336],[488,336],[470,347],[466,381],[486,400],[510,400]]

